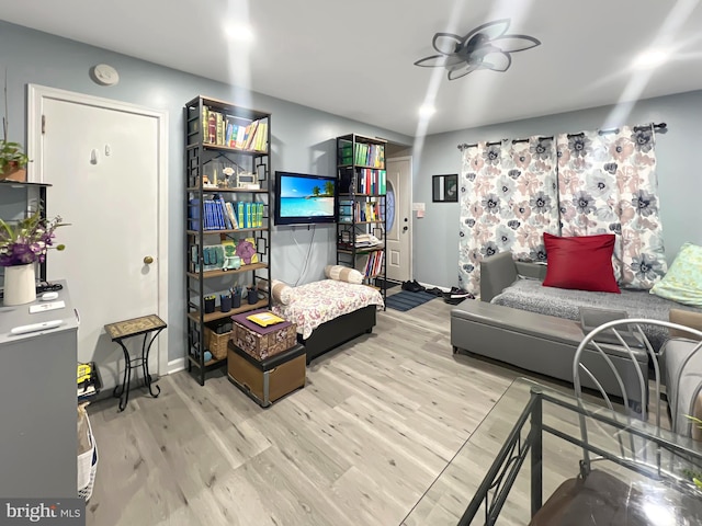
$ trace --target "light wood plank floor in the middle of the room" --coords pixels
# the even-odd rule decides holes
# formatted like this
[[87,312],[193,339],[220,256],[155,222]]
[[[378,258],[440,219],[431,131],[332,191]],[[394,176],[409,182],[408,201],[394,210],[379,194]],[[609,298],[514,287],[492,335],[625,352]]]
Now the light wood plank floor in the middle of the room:
[[261,409],[186,371],[89,408],[100,460],[88,525],[399,525],[523,374],[450,344],[451,306],[378,312],[373,334]]

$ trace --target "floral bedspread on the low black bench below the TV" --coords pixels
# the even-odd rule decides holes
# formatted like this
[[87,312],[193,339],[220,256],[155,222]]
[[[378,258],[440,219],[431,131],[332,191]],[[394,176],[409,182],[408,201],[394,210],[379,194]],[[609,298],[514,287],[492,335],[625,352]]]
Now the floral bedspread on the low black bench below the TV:
[[369,305],[383,306],[383,296],[376,289],[322,279],[293,288],[288,305],[274,305],[272,310],[297,323],[297,332],[306,340],[322,323]]

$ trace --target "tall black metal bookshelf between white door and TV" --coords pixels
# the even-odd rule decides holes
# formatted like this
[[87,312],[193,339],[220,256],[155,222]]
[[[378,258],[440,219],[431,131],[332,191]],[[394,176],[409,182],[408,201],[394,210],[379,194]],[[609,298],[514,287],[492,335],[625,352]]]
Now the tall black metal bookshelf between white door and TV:
[[[197,96],[185,104],[184,121],[188,370],[204,385],[207,371],[226,364],[226,357],[205,359],[205,330],[234,315],[270,307],[271,115]],[[225,217],[227,202],[236,222]],[[257,262],[241,261],[231,268],[205,258],[212,247],[234,243],[238,249],[241,240],[251,243]],[[252,287],[258,301],[248,304],[242,297],[240,307],[223,312],[217,305],[205,312],[206,297],[219,298],[236,286]]]

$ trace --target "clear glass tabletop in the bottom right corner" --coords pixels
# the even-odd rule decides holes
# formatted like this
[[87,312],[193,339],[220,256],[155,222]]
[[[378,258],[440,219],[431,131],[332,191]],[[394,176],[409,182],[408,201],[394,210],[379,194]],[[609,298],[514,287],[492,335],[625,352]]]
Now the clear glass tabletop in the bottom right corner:
[[702,444],[512,382],[401,523],[699,525]]

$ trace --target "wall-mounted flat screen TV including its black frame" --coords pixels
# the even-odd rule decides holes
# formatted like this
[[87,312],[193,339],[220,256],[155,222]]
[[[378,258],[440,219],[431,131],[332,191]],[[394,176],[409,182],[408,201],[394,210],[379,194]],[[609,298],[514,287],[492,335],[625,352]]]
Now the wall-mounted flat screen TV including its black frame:
[[275,225],[337,222],[336,192],[333,176],[275,172]]

